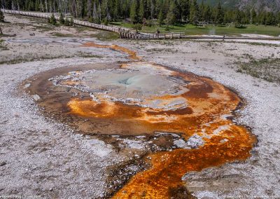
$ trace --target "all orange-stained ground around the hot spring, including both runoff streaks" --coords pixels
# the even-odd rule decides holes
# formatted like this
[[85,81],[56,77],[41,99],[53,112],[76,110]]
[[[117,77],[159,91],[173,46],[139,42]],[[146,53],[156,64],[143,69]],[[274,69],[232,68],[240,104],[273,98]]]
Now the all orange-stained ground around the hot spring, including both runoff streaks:
[[[132,59],[139,59],[134,51],[120,46],[94,43],[85,43],[84,46],[121,50]],[[209,78],[179,71],[172,71],[171,76],[179,76],[190,82],[186,84],[188,91],[179,96],[151,96],[148,100],[184,97],[188,104],[185,109],[165,111],[109,102],[107,99],[100,103],[91,99],[71,99],[68,103],[71,114],[113,119],[115,123],[122,124],[135,123],[134,128],[141,128],[143,132],[175,132],[185,139],[199,135],[204,140],[204,144],[197,149],[175,149],[149,154],[145,160],[151,167],[132,177],[113,198],[170,198],[171,190],[183,185],[181,178],[184,174],[245,160],[250,156],[255,138],[246,128],[223,118],[223,115],[231,114],[237,108],[239,97]]]

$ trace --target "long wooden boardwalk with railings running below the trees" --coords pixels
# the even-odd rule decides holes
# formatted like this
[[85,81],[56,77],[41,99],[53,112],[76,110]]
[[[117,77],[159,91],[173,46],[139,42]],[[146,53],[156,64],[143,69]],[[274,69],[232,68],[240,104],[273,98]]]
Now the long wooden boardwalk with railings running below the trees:
[[[50,18],[50,13],[32,13],[24,11],[11,11],[6,9],[1,9],[3,13],[11,15],[23,15],[34,18]],[[58,16],[55,16],[59,20]],[[73,20],[75,25],[92,27],[94,29],[102,29],[110,32],[116,32],[120,34],[122,39],[218,39],[218,40],[274,40],[280,41],[280,36],[272,37],[246,37],[246,36],[187,36],[184,32],[167,33],[167,34],[151,34],[151,33],[137,33],[132,29],[127,29],[123,27],[109,26],[109,25],[99,25],[91,22],[84,22],[81,20]]]

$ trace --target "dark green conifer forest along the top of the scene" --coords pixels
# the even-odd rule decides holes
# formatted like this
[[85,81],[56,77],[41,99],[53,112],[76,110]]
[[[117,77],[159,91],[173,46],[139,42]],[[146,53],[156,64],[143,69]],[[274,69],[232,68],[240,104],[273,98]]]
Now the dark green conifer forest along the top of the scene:
[[101,23],[127,20],[134,24],[174,25],[178,23],[225,25],[262,24],[279,25],[280,12],[240,11],[223,8],[221,4],[211,7],[196,0],[0,0],[3,8],[20,11],[71,13]]

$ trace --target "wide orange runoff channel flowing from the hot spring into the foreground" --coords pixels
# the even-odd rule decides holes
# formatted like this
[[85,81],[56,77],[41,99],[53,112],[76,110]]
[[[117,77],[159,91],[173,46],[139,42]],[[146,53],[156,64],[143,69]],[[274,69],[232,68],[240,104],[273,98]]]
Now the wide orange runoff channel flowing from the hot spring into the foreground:
[[[226,122],[229,123],[229,122]],[[221,123],[213,123],[211,131]],[[250,156],[255,139],[246,128],[231,125],[220,135],[205,139],[199,149],[176,149],[150,154],[151,168],[136,174],[113,198],[170,198],[172,188],[183,186],[181,178],[190,171],[200,171]]]

